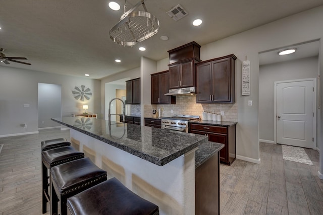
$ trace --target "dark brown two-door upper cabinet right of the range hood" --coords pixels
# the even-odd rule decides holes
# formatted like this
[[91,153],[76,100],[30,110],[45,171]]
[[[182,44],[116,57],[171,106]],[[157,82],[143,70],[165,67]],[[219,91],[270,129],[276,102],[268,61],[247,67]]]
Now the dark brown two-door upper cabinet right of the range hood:
[[196,63],[196,103],[235,103],[234,54]]

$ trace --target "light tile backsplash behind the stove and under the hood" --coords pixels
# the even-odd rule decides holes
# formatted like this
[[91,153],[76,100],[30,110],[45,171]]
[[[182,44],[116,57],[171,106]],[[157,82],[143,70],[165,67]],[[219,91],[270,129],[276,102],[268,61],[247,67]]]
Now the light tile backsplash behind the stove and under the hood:
[[[202,116],[202,112],[218,113],[224,112],[222,116],[223,121],[238,121],[238,107],[237,104],[197,104],[196,95],[177,96],[176,104],[174,105],[144,105],[144,117],[152,117],[152,110],[163,108],[161,116],[172,116],[174,114],[196,115]],[[172,113],[173,110],[173,113]]]

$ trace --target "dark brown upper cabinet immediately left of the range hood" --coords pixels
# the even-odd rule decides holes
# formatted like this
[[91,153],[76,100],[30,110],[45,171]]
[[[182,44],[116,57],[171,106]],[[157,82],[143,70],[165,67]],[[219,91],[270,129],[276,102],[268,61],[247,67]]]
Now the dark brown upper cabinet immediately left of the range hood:
[[165,96],[169,91],[169,71],[151,74],[151,104],[175,104],[175,96]]

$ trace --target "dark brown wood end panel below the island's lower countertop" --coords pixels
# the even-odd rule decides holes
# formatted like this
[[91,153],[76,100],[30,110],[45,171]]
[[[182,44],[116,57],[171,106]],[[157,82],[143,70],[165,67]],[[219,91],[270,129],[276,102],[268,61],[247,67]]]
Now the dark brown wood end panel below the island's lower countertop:
[[195,214],[220,214],[219,152],[195,169]]

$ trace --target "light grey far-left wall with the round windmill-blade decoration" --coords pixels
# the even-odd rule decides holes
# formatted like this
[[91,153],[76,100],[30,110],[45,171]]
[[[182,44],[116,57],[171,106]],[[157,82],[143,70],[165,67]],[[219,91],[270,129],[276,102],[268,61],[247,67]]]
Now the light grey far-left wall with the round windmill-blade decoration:
[[[88,112],[100,113],[100,81],[40,71],[0,66],[0,137],[38,132],[38,83],[62,85],[62,116],[82,113],[85,102],[75,100],[72,90],[85,85],[92,97]],[[29,104],[30,107],[24,107]],[[27,123],[27,128],[20,126]]]

